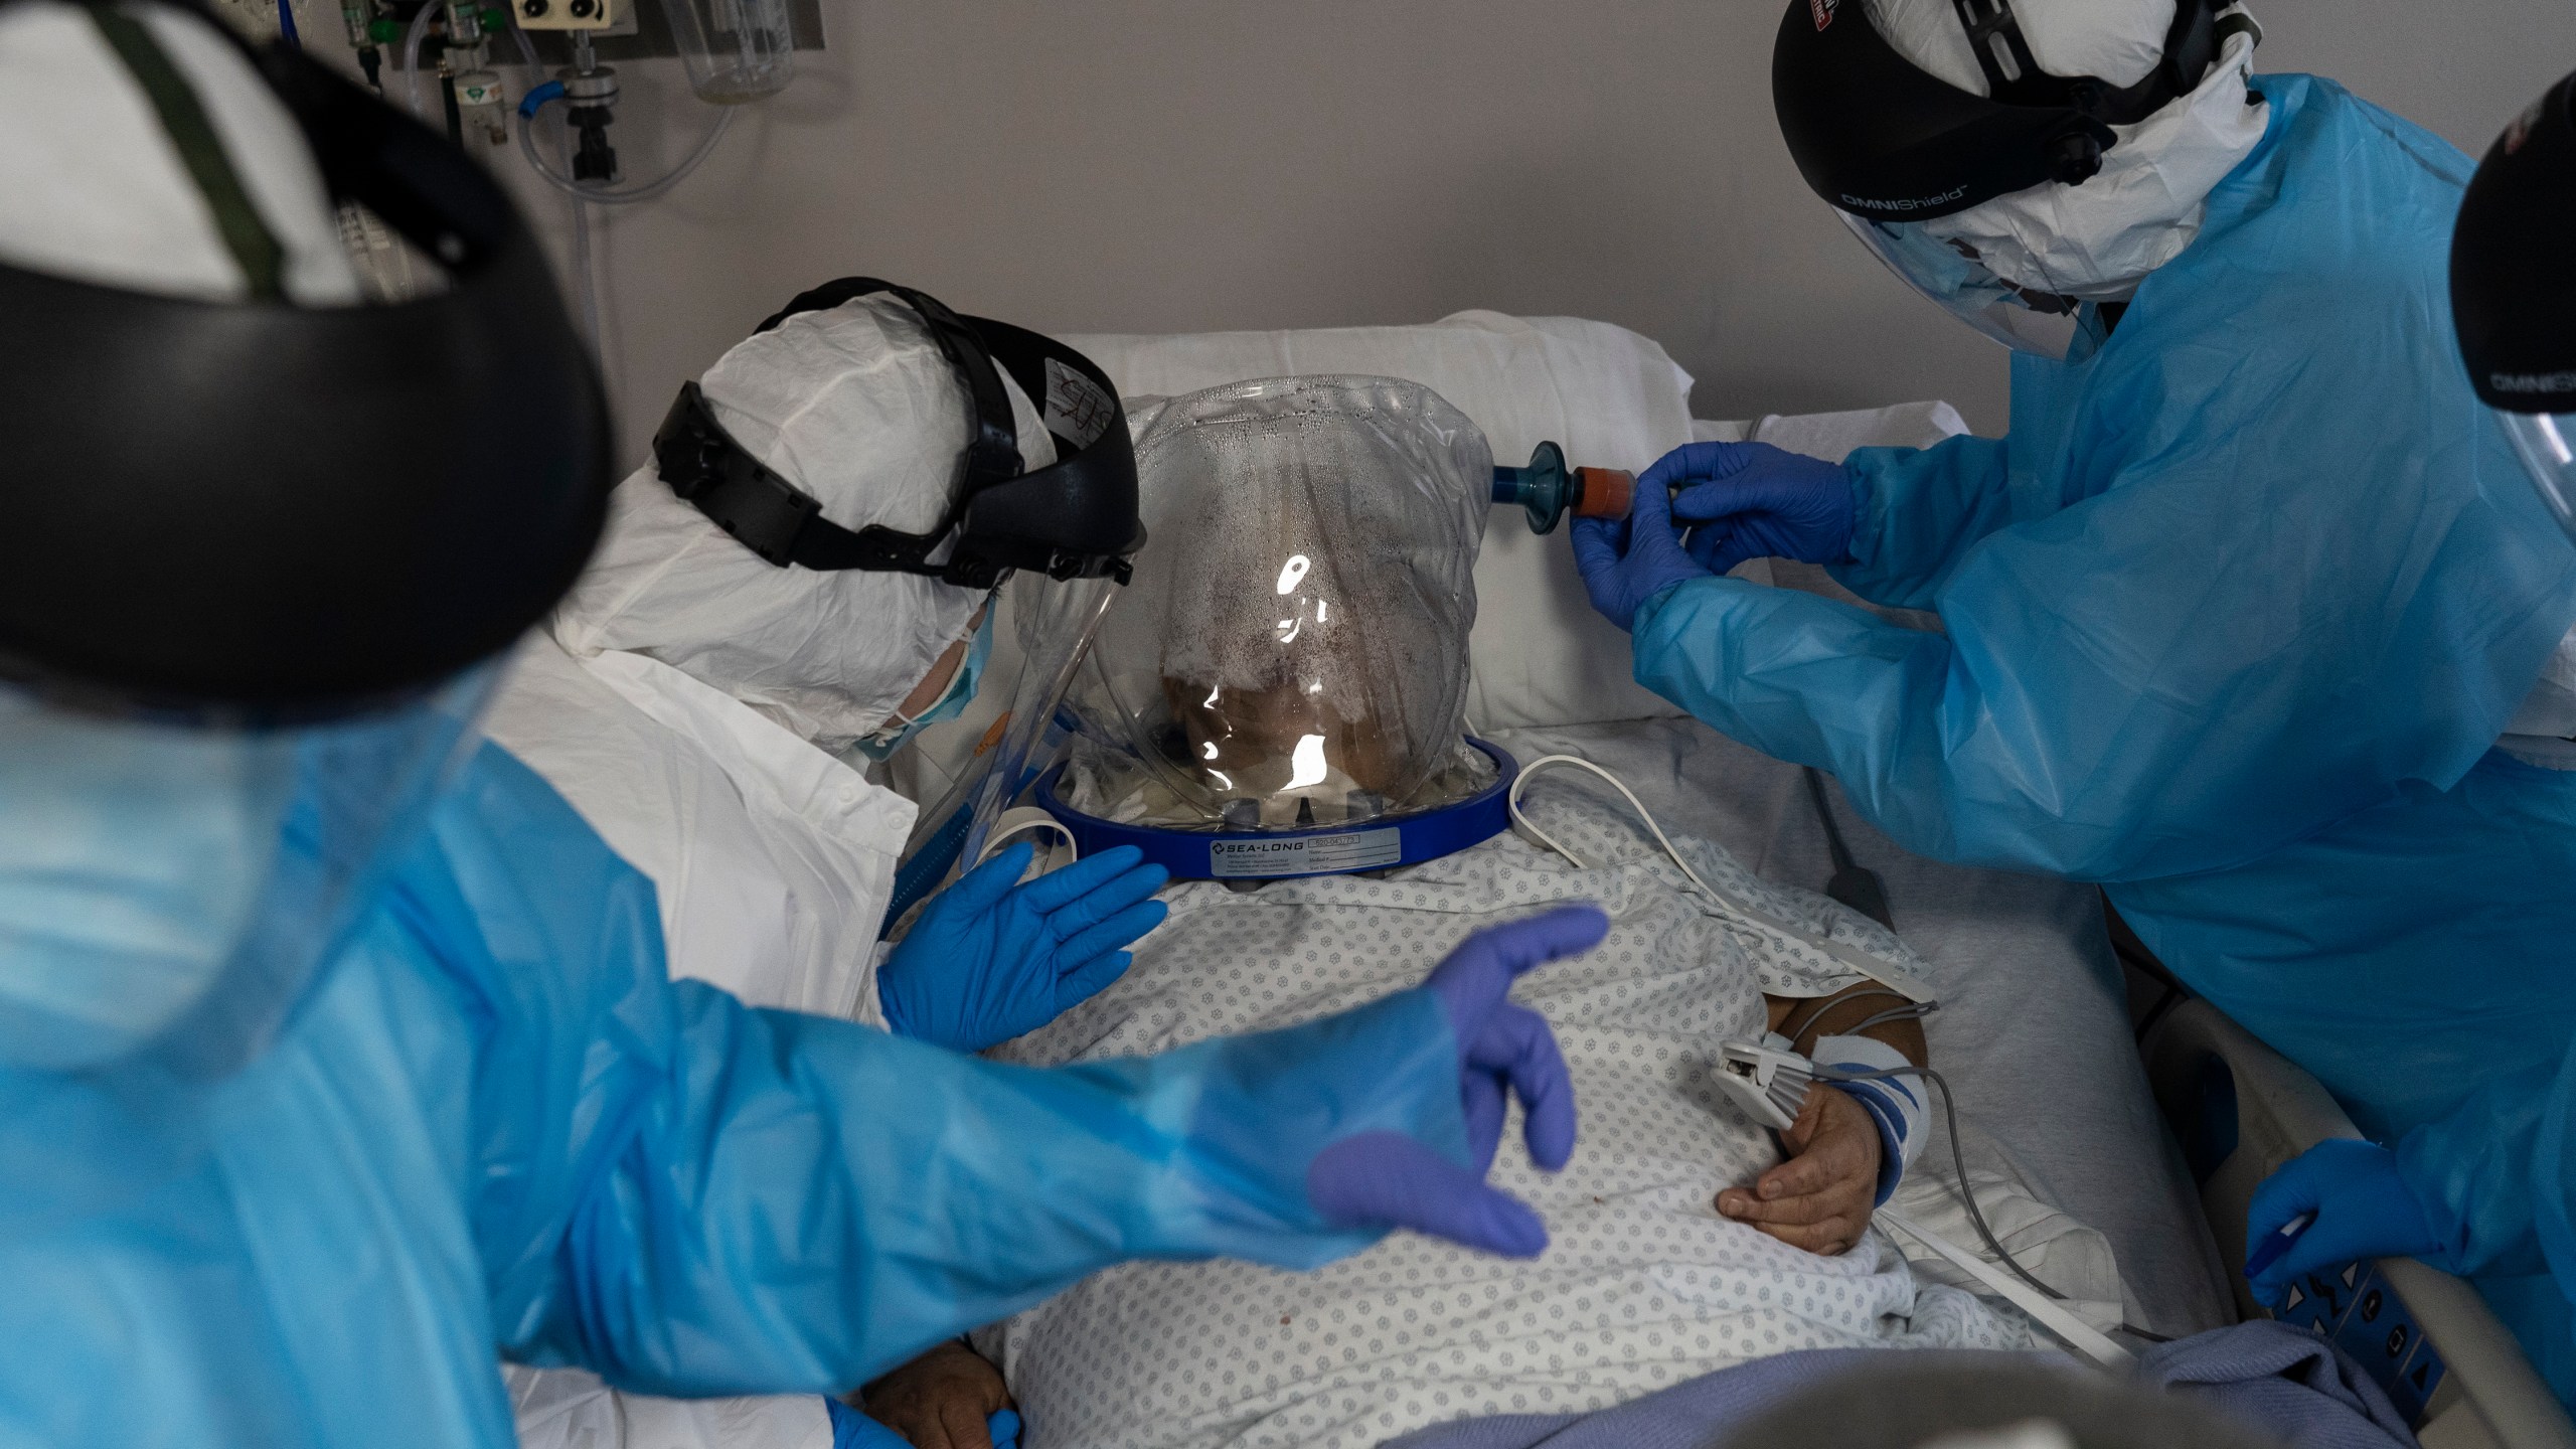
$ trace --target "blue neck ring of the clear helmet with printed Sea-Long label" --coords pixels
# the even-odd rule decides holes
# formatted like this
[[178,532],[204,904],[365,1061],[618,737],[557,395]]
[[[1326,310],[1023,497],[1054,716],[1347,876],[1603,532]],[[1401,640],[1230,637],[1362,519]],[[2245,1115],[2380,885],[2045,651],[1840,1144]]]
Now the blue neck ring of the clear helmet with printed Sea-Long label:
[[1350,871],[1381,871],[1453,856],[1492,841],[1512,825],[1512,779],[1520,763],[1468,735],[1468,745],[1494,761],[1494,781],[1476,794],[1406,815],[1378,815],[1352,825],[1306,825],[1291,830],[1180,830],[1170,825],[1121,825],[1084,815],[1056,786],[1064,766],[1038,781],[1038,804],[1074,838],[1084,856],[1115,846],[1136,846],[1146,864],[1172,871],[1172,879],[1301,879]]

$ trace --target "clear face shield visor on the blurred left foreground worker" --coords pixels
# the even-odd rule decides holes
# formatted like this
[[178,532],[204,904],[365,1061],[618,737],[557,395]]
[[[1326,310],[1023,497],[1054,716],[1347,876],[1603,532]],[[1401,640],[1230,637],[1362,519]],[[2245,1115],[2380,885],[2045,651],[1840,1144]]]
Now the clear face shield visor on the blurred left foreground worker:
[[252,1060],[477,740],[497,676],[273,727],[0,686],[0,1067]]

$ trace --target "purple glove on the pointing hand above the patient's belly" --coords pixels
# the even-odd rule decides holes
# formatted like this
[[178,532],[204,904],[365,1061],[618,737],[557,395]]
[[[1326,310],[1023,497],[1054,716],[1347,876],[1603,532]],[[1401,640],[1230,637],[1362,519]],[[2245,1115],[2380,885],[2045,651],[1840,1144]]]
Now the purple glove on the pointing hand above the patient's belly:
[[1316,1152],[1306,1199],[1334,1225],[1396,1225],[1507,1258],[1535,1258],[1548,1227],[1520,1199],[1486,1186],[1502,1145],[1504,1091],[1520,1096],[1522,1140],[1546,1171],[1574,1152],[1574,1080],[1548,1018],[1504,1000],[1512,977],[1540,962],[1589,951],[1610,931],[1595,905],[1489,926],[1443,959],[1425,990],[1448,1008],[1458,1036],[1458,1098],[1468,1163],[1453,1163],[1399,1132],[1363,1132]]

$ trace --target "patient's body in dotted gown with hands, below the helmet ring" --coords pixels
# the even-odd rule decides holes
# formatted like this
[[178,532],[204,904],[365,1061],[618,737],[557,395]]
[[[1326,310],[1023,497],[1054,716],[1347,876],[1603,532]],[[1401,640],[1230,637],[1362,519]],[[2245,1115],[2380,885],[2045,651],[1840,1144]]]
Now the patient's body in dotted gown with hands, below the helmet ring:
[[[1790,1348],[2030,1343],[1984,1299],[1919,1281],[1865,1227],[1880,1142],[1852,1098],[1811,1093],[1783,1160],[1708,1085],[1728,1036],[1790,1018],[1811,1047],[1816,1026],[1844,1029],[1891,1000],[1816,1011],[1868,977],[1700,895],[1615,794],[1551,773],[1525,810],[1592,869],[1504,833],[1396,879],[1255,895],[1182,884],[1118,985],[1012,1052],[1074,1062],[1306,1021],[1414,980],[1476,926],[1597,900],[1610,938],[1515,993],[1556,1026],[1582,1111],[1564,1173],[1530,1168],[1512,1134],[1494,1165],[1497,1186],[1546,1217],[1546,1256],[1396,1235],[1316,1274],[1097,1274],[976,1338],[1033,1446],[1360,1446],[1461,1415],[1605,1408]],[[1878,926],[1770,887],[1710,843],[1677,846],[1718,892],[1857,957],[1906,962]],[[1919,1060],[1922,1036],[1899,1031],[1888,1039]],[[935,1444],[930,1403],[997,1392],[956,1354],[899,1369],[868,1408]]]

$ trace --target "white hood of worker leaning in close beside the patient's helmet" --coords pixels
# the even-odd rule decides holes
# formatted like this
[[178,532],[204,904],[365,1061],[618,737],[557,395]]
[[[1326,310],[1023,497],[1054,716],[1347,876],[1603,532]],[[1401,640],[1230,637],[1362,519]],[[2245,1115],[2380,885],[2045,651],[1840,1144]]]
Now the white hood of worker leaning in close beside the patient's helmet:
[[[974,410],[912,307],[863,297],[799,312],[724,353],[701,379],[742,449],[814,495],[842,529],[938,526],[956,495]],[[1023,467],[1054,438],[1002,374]],[[608,498],[608,531],[556,608],[577,657],[662,660],[840,753],[884,724],[987,593],[876,570],[773,567],[636,469]]]

